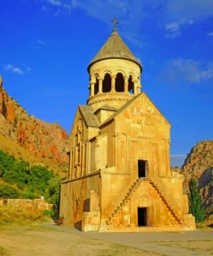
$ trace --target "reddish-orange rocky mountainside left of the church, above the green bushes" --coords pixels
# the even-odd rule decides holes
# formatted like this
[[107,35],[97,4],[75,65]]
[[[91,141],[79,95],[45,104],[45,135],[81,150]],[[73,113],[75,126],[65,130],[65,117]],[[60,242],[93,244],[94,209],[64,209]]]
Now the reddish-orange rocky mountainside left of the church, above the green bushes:
[[0,134],[19,144],[24,150],[29,150],[36,157],[60,163],[62,169],[68,163],[66,152],[69,138],[66,131],[57,123],[48,124],[33,115],[28,115],[28,112],[3,88],[1,77]]

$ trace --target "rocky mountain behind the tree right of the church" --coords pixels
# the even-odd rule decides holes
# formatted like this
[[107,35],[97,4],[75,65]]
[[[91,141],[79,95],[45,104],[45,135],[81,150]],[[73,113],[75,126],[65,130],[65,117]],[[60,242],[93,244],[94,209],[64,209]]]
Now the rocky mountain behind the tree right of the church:
[[[175,170],[175,169],[173,169]],[[197,143],[185,158],[185,163],[180,170],[185,176],[185,192],[191,178],[197,179],[200,195],[203,199],[205,215],[213,214],[213,140]]]

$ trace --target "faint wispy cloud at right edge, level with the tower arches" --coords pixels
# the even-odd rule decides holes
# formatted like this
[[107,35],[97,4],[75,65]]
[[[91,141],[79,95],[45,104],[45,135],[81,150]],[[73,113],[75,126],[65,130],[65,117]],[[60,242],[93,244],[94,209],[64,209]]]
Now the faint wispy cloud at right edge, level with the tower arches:
[[163,72],[166,80],[172,84],[188,82],[199,84],[207,80],[213,80],[213,62],[201,62],[191,59],[176,59],[168,61]]

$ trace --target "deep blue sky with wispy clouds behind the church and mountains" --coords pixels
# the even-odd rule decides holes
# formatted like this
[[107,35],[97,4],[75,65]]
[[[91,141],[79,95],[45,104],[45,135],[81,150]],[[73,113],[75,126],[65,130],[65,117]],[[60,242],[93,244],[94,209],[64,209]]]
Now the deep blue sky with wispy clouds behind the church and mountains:
[[143,65],[142,90],[172,124],[178,165],[198,141],[213,139],[212,0],[1,1],[3,86],[29,114],[69,133],[114,15]]

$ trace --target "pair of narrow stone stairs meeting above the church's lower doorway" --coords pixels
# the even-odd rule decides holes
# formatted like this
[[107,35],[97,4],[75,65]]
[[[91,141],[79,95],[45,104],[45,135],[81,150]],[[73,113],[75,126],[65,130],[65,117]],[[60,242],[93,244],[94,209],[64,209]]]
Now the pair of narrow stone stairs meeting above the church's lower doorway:
[[137,178],[135,182],[132,183],[131,187],[128,189],[128,192],[126,193],[122,201],[119,202],[115,210],[112,212],[112,214],[110,214],[109,219],[106,221],[106,226],[110,227],[112,225],[112,222],[115,220],[116,216],[122,211],[122,209],[127,204],[128,200],[130,200],[135,190],[141,185],[141,182],[149,182],[153,186],[153,189],[157,191],[157,193],[160,195],[161,200],[165,203],[166,208],[169,209],[170,213],[172,214],[172,217],[175,219],[175,221],[179,223],[179,225],[182,225],[183,221],[181,215],[174,210],[172,202],[165,195],[164,189],[162,188],[160,182],[146,177]]

